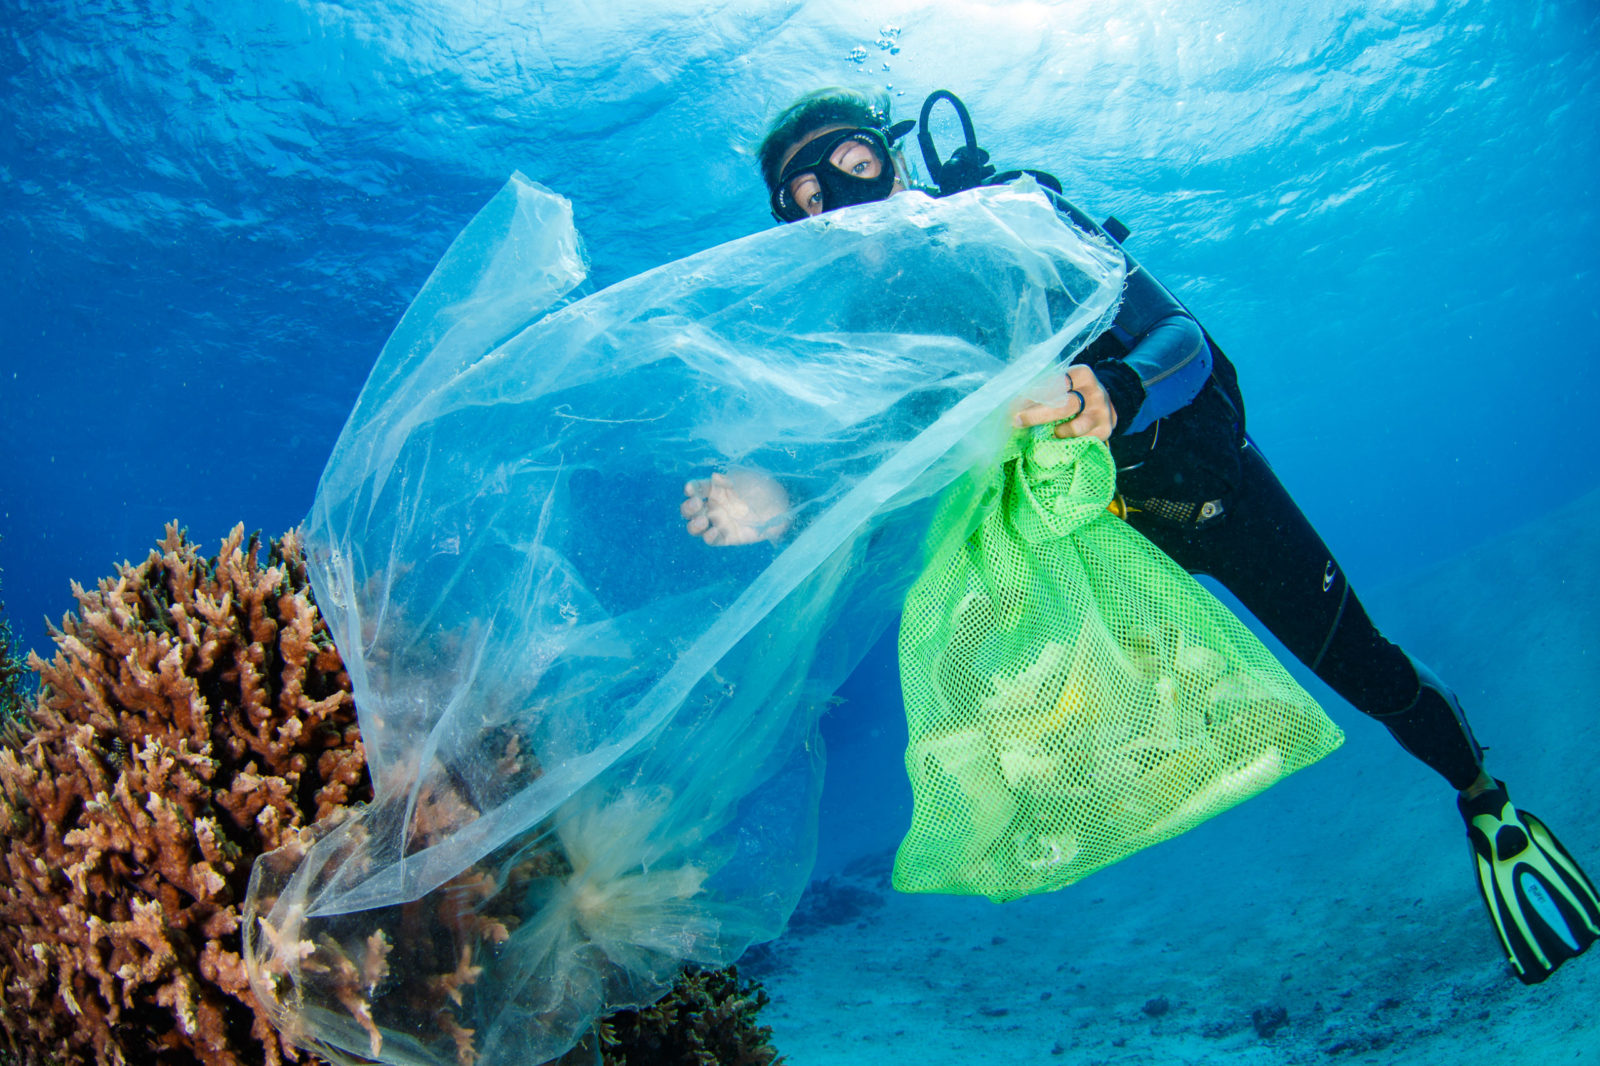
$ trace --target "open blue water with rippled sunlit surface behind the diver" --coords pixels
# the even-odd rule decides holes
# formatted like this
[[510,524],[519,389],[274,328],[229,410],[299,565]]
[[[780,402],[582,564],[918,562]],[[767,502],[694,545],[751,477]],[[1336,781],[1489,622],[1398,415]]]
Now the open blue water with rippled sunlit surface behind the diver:
[[[8,615],[45,650],[69,583],[166,520],[299,522],[510,171],[573,200],[603,285],[768,226],[752,146],[822,83],[898,117],[954,90],[997,160],[1130,224],[1386,587],[1600,487],[1597,78],[1589,0],[0,0]],[[835,719],[842,810],[896,739]],[[824,868],[896,816],[843,820]]]

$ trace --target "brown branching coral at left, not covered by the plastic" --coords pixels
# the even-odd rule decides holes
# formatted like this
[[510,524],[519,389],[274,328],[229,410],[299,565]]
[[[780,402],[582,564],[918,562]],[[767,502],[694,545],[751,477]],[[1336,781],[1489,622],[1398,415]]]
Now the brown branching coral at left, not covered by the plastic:
[[174,525],[34,656],[0,746],[0,1026],[24,1063],[278,1063],[240,959],[251,863],[368,799],[294,533],[202,559]]

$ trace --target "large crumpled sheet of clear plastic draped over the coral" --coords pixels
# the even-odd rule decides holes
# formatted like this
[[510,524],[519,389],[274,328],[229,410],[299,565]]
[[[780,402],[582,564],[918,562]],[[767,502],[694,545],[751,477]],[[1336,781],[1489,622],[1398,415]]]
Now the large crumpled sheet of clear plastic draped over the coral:
[[[277,1024],[346,1061],[542,1063],[778,935],[819,707],[898,616],[938,495],[1107,327],[1122,271],[1024,182],[579,299],[568,203],[514,178],[389,339],[307,519],[376,799],[256,866]],[[688,536],[714,472],[779,485],[781,536]]]

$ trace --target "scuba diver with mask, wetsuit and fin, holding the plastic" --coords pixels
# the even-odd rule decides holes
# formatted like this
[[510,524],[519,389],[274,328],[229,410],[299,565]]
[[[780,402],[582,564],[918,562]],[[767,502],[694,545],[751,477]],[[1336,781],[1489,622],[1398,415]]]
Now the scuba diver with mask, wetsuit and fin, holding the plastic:
[[[965,134],[947,160],[928,126],[939,102],[955,109]],[[931,189],[917,184],[898,147],[918,126]],[[1117,219],[1096,224],[1078,211],[1043,171],[995,173],[965,106],[947,91],[926,99],[920,122],[891,123],[886,94],[818,90],[776,117],[758,162],[779,222],[907,189],[944,197],[1027,173],[1080,229],[1118,248],[1128,237]],[[1114,509],[1133,528],[1189,573],[1230,589],[1301,663],[1450,781],[1509,962],[1523,983],[1542,981],[1600,938],[1594,884],[1483,768],[1483,749],[1454,693],[1373,626],[1322,536],[1246,435],[1234,365],[1194,315],[1123,254],[1123,303],[1114,325],[1064,368],[1066,403],[1030,405],[1016,424],[1054,423],[1056,437],[1104,440],[1117,463]],[[685,496],[688,531],[709,544],[776,539],[787,527],[782,488],[758,474],[690,482]]]

